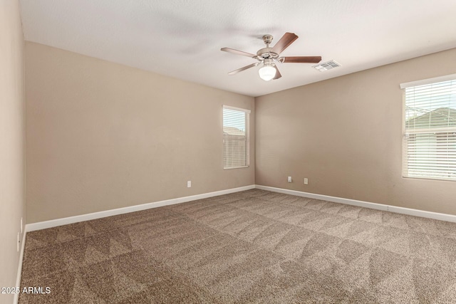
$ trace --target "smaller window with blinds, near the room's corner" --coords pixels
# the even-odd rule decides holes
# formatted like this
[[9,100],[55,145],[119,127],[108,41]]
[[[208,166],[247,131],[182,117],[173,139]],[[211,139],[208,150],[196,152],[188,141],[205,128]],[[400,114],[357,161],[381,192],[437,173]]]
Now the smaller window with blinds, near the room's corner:
[[250,110],[223,106],[223,169],[249,167]]

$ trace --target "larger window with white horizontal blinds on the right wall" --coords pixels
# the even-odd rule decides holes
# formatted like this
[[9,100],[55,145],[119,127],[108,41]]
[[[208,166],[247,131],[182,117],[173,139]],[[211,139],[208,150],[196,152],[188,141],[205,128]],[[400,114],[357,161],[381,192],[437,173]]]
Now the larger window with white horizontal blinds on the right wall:
[[403,177],[456,181],[456,74],[405,89]]

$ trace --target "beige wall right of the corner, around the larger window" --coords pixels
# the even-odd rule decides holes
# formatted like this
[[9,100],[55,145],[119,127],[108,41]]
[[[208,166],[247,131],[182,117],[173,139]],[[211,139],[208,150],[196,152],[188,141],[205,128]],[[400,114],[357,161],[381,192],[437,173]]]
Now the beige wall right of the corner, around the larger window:
[[399,88],[456,73],[455,58],[452,49],[256,98],[256,183],[456,214],[456,182],[402,178]]

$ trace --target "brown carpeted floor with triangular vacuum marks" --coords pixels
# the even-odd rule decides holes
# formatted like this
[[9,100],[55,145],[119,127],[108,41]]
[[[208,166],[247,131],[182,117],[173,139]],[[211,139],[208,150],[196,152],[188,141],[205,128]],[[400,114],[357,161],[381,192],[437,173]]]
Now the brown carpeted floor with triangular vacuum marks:
[[456,224],[253,189],[26,236],[19,303],[456,303]]

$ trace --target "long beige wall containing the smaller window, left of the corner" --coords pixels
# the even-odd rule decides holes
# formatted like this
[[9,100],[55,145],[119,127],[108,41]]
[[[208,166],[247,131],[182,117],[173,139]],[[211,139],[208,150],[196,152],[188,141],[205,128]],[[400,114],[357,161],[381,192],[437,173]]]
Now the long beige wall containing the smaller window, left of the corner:
[[249,168],[222,162],[222,105],[253,118],[254,98],[37,43],[25,58],[28,223],[254,184],[254,140]]

